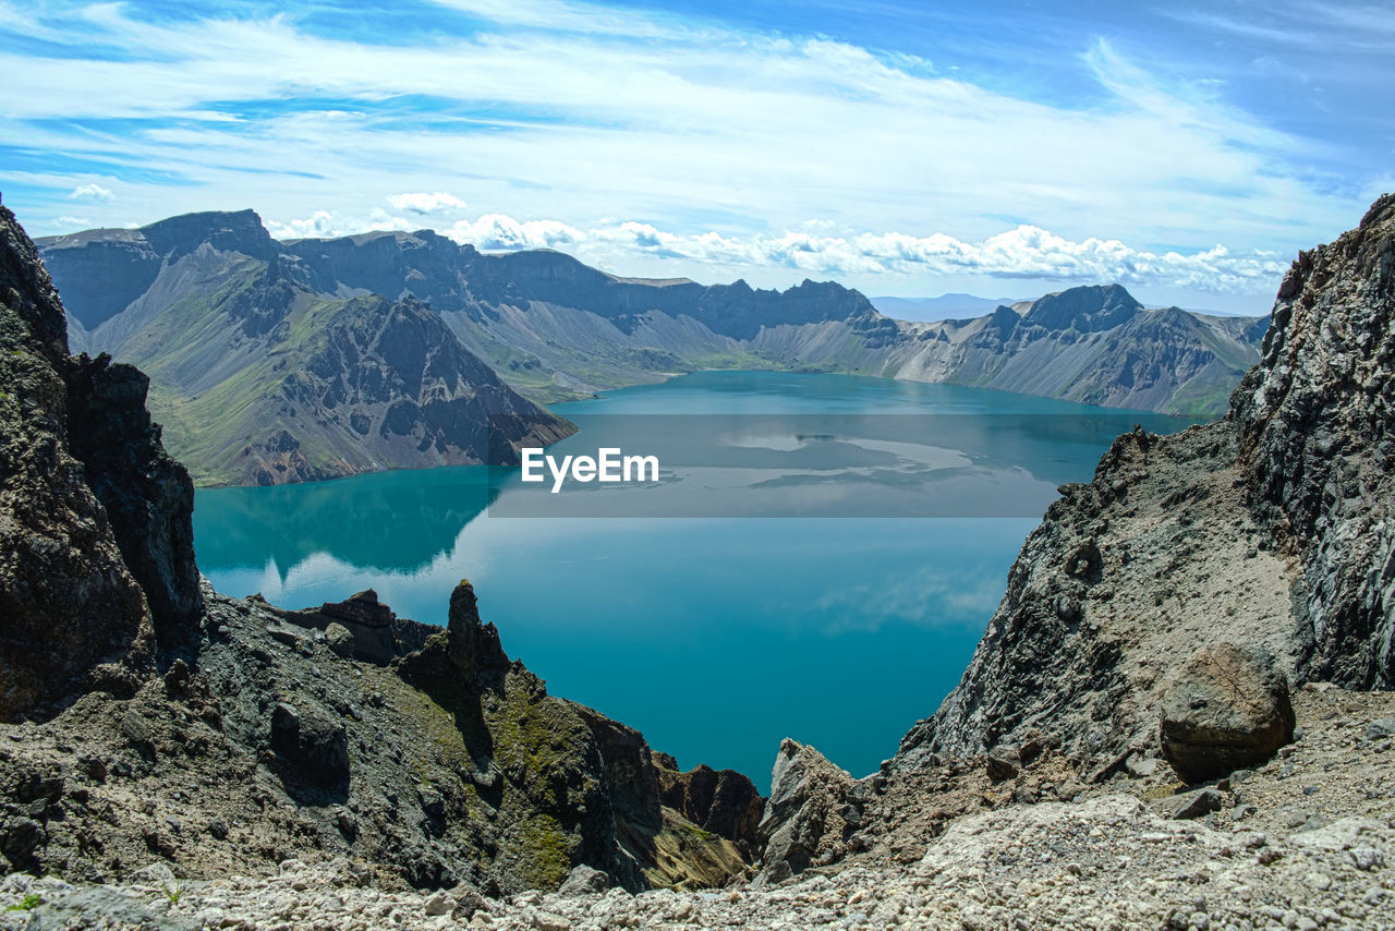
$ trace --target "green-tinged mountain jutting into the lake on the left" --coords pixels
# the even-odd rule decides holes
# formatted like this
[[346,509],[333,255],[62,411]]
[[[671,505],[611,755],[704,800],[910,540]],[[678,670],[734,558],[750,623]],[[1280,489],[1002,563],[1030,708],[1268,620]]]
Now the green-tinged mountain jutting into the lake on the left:
[[[410,295],[304,286],[252,211],[59,237],[49,257],[64,282],[105,281],[93,267],[114,275],[110,292],[89,288],[75,301],[93,328],[80,322],[73,342],[102,342],[149,373],[152,409],[199,484],[481,463],[573,430],[513,392]],[[491,417],[506,442],[491,447]]]

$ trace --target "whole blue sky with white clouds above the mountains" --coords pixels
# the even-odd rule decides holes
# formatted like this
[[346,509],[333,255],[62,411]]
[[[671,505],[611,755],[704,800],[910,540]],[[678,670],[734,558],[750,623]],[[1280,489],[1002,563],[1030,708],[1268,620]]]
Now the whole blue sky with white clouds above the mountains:
[[624,275],[1262,313],[1395,188],[1395,15],[1225,1],[0,0],[35,236],[255,208]]

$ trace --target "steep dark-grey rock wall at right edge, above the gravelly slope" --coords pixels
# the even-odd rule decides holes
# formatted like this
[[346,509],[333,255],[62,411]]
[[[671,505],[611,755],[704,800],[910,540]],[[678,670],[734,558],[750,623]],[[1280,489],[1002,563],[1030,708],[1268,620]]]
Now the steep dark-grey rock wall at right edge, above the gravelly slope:
[[1303,560],[1307,677],[1395,687],[1395,195],[1299,255],[1232,398],[1250,490]]

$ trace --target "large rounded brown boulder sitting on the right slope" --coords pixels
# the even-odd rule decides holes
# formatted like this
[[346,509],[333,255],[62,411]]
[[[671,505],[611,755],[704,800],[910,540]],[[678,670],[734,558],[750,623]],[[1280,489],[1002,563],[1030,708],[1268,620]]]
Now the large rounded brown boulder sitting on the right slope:
[[1292,738],[1288,677],[1262,648],[1204,646],[1163,694],[1162,752],[1187,782],[1258,766]]

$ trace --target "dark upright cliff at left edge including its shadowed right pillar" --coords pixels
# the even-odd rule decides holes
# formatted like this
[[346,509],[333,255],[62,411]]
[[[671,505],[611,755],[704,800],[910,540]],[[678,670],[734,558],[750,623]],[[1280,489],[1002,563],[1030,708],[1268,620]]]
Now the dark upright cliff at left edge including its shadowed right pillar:
[[0,211],[0,713],[46,715],[84,688],[130,691],[184,638],[202,607],[194,487],[145,413],[145,377],[68,356],[57,293]]

